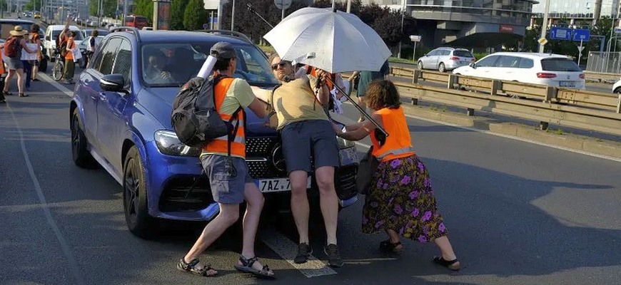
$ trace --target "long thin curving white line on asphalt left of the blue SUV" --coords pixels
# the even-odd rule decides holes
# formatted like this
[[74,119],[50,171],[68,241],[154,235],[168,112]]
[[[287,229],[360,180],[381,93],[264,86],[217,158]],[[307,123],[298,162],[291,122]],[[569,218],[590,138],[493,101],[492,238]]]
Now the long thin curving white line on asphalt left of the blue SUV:
[[13,122],[15,123],[15,127],[17,128],[17,133],[19,133],[19,144],[21,145],[21,153],[24,155],[24,160],[26,161],[26,168],[28,168],[28,172],[30,175],[30,179],[32,180],[32,184],[34,185],[34,189],[36,190],[36,195],[39,197],[39,204],[41,204],[41,209],[43,209],[45,218],[50,225],[52,231],[56,235],[56,239],[58,239],[59,244],[67,261],[69,262],[69,269],[71,269],[71,273],[74,275],[74,279],[77,284],[86,284],[84,281],[84,276],[82,276],[81,271],[78,266],[78,262],[76,261],[76,257],[71,252],[71,247],[67,243],[65,237],[63,236],[61,230],[59,229],[58,224],[54,221],[54,218],[51,216],[51,211],[49,209],[49,204],[45,199],[45,195],[43,194],[43,190],[41,190],[41,184],[39,184],[39,180],[36,178],[36,174],[34,173],[34,168],[32,167],[32,162],[30,161],[30,156],[28,155],[28,150],[26,150],[26,143],[24,142],[24,133],[21,131],[19,127],[19,123],[15,118],[13,113],[13,109],[7,105],[9,109],[9,113],[11,113],[11,118],[13,118]]

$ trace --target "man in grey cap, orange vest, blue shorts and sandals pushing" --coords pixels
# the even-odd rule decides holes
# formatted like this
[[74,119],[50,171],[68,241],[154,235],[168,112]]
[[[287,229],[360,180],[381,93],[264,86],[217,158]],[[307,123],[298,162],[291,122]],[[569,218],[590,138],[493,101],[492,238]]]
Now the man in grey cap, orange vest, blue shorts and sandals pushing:
[[[267,265],[261,264],[254,252],[264,198],[250,176],[245,160],[246,113],[243,111],[243,108],[249,108],[259,118],[264,118],[268,105],[255,97],[248,82],[233,78],[237,53],[231,43],[216,43],[211,47],[210,54],[217,59],[213,67],[218,78],[216,86],[213,87],[216,110],[223,120],[236,127],[232,128],[231,135],[216,138],[203,148],[201,162],[209,178],[213,200],[220,207],[220,214],[203,229],[201,237],[198,237],[186,256],[181,258],[177,268],[202,276],[216,276],[218,271],[209,264],[201,263],[198,257],[239,219],[239,204],[246,200],[243,245],[235,268],[260,278],[273,279],[274,272]],[[183,88],[188,88],[193,82],[188,82]]]

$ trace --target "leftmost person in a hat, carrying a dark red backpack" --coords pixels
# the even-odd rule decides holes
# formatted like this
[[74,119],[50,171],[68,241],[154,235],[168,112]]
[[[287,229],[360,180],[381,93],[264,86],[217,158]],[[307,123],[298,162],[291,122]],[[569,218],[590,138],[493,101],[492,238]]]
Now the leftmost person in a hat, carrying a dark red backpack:
[[9,74],[4,79],[4,89],[2,90],[2,95],[13,95],[13,93],[9,92],[9,87],[11,86],[11,78],[14,75],[17,75],[17,90],[19,92],[19,97],[28,97],[26,93],[24,93],[24,65],[21,63],[21,50],[24,49],[28,53],[36,53],[36,51],[32,51],[26,46],[26,39],[24,39],[24,35],[26,35],[28,31],[24,31],[24,28],[21,26],[15,26],[12,31],[9,31],[9,38],[6,39],[6,42],[2,45],[2,49],[4,51],[4,55],[6,56],[7,61],[6,66],[9,68]]

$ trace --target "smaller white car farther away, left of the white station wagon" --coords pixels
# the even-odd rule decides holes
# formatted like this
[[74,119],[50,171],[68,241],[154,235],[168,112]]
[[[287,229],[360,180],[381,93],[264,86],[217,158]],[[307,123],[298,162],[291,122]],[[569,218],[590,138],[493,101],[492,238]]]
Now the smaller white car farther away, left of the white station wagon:
[[460,66],[468,66],[473,62],[475,56],[465,48],[435,48],[418,58],[418,69],[437,69],[445,72]]

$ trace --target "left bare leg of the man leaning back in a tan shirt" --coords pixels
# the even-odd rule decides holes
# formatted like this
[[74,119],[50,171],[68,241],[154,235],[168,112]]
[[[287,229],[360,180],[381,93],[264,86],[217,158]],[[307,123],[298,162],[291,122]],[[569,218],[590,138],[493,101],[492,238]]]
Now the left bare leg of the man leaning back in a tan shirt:
[[289,173],[289,180],[291,180],[291,213],[298,228],[300,243],[309,244],[308,215],[310,206],[308,206],[308,197],[306,196],[308,174],[304,170],[292,171]]

